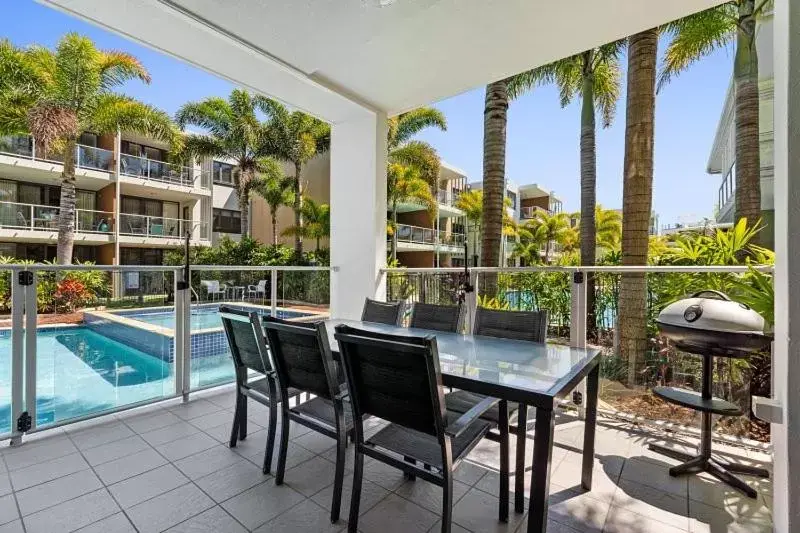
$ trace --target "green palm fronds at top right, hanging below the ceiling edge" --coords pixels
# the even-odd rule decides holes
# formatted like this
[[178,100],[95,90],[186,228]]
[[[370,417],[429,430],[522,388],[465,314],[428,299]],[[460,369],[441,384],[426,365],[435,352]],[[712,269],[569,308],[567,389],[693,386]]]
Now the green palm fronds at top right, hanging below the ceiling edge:
[[722,4],[667,24],[672,36],[658,75],[656,91],[695,61],[730,44],[736,37],[736,7]]

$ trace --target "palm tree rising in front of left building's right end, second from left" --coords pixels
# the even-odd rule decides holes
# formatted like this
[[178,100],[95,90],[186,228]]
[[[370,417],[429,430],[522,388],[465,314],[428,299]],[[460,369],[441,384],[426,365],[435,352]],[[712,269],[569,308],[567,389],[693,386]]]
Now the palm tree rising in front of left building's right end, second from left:
[[236,162],[234,180],[242,219],[242,234],[250,235],[250,196],[259,176],[281,176],[280,165],[267,150],[269,128],[256,116],[256,96],[234,89],[228,99],[216,96],[181,106],[175,120],[181,128],[194,125],[205,134],[187,134],[185,151],[194,157],[214,157]]

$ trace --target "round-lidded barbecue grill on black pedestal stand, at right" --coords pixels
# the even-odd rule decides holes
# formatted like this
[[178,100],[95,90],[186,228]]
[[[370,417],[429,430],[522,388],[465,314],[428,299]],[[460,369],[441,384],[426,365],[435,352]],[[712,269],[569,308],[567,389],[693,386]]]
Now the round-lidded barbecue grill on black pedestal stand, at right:
[[653,394],[669,403],[699,411],[702,423],[699,455],[691,456],[657,444],[651,444],[650,449],[685,461],[669,469],[671,476],[708,472],[747,496],[757,497],[755,489],[733,473],[768,477],[766,470],[711,457],[712,416],[742,414],[735,403],[712,396],[711,380],[714,357],[746,358],[752,352],[769,347],[772,338],[764,331],[764,319],[722,292],[705,290],[665,307],[656,323],[662,335],[678,349],[703,358],[703,384],[699,394],[676,387],[655,387]]

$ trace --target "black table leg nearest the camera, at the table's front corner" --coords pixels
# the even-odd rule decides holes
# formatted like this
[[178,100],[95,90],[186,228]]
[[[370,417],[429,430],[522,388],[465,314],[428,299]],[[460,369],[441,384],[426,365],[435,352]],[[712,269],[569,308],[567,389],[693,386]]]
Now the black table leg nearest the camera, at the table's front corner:
[[535,428],[528,533],[544,533],[547,530],[547,500],[550,494],[550,466],[553,459],[555,429],[552,409],[541,407],[536,409]]

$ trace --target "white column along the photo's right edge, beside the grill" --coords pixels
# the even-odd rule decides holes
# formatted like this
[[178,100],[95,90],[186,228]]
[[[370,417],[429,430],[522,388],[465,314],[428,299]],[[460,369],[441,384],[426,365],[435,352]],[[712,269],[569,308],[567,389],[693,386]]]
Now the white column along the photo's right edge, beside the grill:
[[[775,2],[775,531],[800,531],[800,0]],[[790,179],[790,176],[793,177]]]

